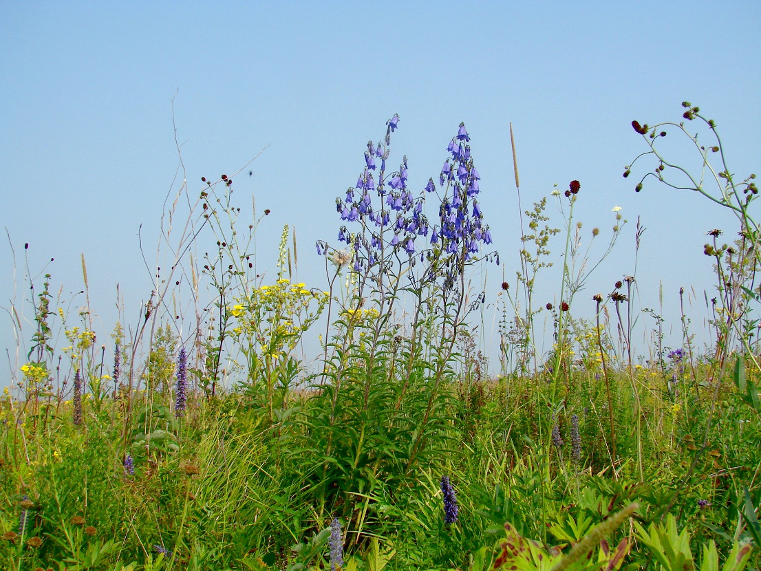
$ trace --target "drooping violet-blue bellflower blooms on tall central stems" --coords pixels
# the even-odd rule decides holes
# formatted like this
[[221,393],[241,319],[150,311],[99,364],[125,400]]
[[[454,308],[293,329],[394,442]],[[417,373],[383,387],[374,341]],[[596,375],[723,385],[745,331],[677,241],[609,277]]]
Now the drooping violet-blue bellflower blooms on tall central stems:
[[[408,187],[406,156],[398,171],[387,172],[391,134],[397,128],[399,116],[387,121],[386,136],[375,145],[368,142],[365,167],[355,187],[344,197],[336,197],[336,211],[345,222],[339,228],[338,239],[353,254],[355,272],[370,270],[385,274],[390,256],[406,257],[409,266],[416,258],[422,263],[428,254],[431,267],[427,279],[444,276],[444,287],[452,287],[454,278],[463,272],[468,260],[479,252],[480,244],[491,244],[489,226],[482,224],[483,215],[476,196],[479,176],[470,156],[470,136],[464,123],[447,146],[451,154],[444,162],[438,183],[441,204],[438,224],[431,227],[423,212],[425,196],[438,193],[432,178],[419,193],[412,196]],[[349,231],[348,225],[360,225],[359,231]],[[317,254],[326,254],[328,246],[317,242]],[[498,257],[496,257],[499,263]]]

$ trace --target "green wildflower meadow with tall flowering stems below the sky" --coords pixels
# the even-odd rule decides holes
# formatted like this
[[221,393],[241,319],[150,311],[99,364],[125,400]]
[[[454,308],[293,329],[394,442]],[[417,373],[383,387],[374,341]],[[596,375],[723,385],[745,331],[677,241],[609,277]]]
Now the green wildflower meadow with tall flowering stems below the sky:
[[[154,292],[113,330],[94,330],[89,301],[62,304],[53,276],[25,284],[7,308],[19,358],[0,399],[0,567],[758,569],[757,189],[728,171],[713,122],[683,113],[632,122],[642,155],[623,176],[632,192],[694,190],[737,227],[706,228],[710,330],[682,312],[666,346],[654,314],[644,356],[632,299],[649,285],[584,288],[619,212],[612,232],[582,229],[573,180],[524,203],[521,244],[493,244],[466,126],[419,192],[391,153],[398,116],[336,197],[336,243],[297,254],[286,227],[259,244],[279,248],[275,274],[251,254],[269,212],[248,217],[222,175],[167,206]],[[661,154],[667,135],[701,171]],[[609,242],[590,259],[594,240]],[[305,255],[325,266],[308,283],[293,271]],[[508,260],[515,279],[478,282]],[[536,293],[547,280],[554,305]]]

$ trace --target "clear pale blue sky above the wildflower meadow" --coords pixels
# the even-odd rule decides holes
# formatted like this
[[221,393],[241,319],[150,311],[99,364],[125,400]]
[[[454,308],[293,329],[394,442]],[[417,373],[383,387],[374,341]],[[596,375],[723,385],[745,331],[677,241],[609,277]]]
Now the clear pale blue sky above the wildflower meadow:
[[[247,168],[253,175],[237,177],[234,188],[240,206],[254,193],[257,208],[272,211],[258,235],[259,265],[270,273],[282,226],[295,225],[299,279],[324,287],[314,241],[336,243],[335,197],[355,183],[368,139],[383,136],[399,113],[390,162],[408,156],[416,190],[438,176],[447,142],[466,123],[482,212],[514,281],[520,230],[511,122],[524,207],[549,196],[553,184],[565,189],[578,179],[585,228],[609,235],[614,206],[629,221],[579,298],[610,292],[634,272],[639,215],[648,230],[638,307],[658,308],[662,281],[667,324],[678,331],[678,289],[694,287],[693,324],[702,330],[702,292],[710,298],[713,283],[705,232],[734,233],[737,223],[699,196],[655,183],[635,194],[634,177],[621,174],[646,147],[630,123],[678,120],[680,102],[690,100],[718,123],[734,171],[758,171],[759,24],[756,0],[6,0],[0,173],[10,242],[4,237],[0,247],[0,305],[8,308],[13,295],[11,251],[21,269],[28,243],[33,275],[55,258],[45,271],[68,299],[82,288],[84,254],[100,339],[116,319],[117,283],[127,313],[139,313],[151,281],[137,232],[142,225],[151,252],[177,171],[174,97],[193,193],[202,176],[237,171],[264,149]],[[552,251],[559,261],[562,244]],[[556,282],[540,285],[547,301]],[[577,313],[593,309],[589,301]],[[5,349],[8,319],[2,330]]]

